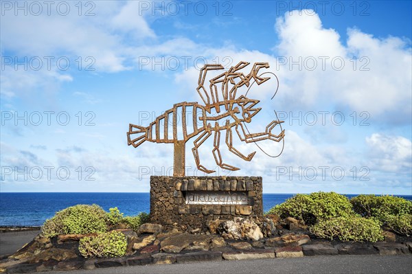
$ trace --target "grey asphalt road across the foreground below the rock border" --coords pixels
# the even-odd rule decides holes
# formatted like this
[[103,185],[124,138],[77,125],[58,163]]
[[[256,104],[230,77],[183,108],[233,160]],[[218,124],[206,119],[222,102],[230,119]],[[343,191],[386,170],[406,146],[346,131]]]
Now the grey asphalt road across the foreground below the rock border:
[[62,274],[92,273],[152,273],[152,274],[242,274],[242,273],[412,273],[411,255],[334,255],[290,259],[199,262],[192,264],[163,264],[122,266],[91,271],[50,271]]

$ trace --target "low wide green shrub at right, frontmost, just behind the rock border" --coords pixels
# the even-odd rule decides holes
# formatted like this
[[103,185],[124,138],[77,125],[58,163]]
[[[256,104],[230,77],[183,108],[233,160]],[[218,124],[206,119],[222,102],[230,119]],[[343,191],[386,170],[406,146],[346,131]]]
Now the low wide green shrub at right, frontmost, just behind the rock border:
[[330,240],[338,238],[342,241],[378,242],[384,239],[378,220],[356,215],[320,220],[310,227],[310,231]]

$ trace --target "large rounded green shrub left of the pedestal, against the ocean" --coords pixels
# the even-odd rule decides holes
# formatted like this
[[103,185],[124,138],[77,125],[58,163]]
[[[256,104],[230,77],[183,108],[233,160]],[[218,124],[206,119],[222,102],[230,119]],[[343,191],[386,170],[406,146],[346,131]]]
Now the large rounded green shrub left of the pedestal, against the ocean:
[[57,212],[46,220],[41,236],[54,237],[59,234],[83,234],[106,231],[106,212],[98,205],[75,205]]

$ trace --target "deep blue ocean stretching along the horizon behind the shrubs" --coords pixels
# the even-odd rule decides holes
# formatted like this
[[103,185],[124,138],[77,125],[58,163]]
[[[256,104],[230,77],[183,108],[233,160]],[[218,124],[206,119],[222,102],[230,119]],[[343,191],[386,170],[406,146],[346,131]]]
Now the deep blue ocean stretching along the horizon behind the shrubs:
[[[283,203],[295,194],[263,194],[263,210]],[[345,195],[348,198],[356,194]],[[412,200],[412,196],[402,196]],[[66,207],[78,204],[97,204],[108,211],[117,207],[124,216],[135,216],[139,212],[150,212],[149,193],[1,193],[0,192],[0,227],[41,226],[48,218]]]

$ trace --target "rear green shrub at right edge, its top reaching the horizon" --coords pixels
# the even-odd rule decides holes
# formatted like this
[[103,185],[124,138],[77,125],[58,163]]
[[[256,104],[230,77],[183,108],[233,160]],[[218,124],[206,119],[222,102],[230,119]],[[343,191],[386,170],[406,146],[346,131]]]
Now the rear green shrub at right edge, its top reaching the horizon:
[[376,217],[385,222],[385,216],[412,214],[412,201],[396,196],[358,195],[350,199],[354,212],[363,217]]

